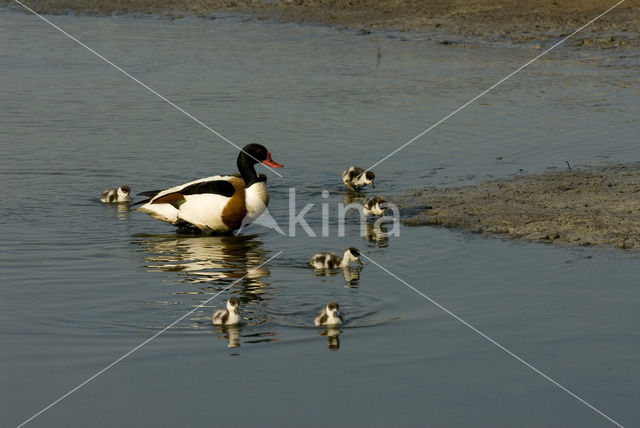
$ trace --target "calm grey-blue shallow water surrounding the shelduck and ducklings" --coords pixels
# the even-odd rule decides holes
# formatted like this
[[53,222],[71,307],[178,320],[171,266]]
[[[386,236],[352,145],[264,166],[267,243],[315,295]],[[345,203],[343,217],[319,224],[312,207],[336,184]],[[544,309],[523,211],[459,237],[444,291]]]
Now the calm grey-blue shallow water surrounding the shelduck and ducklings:
[[[283,178],[264,171],[280,227],[295,187],[318,235],[328,204],[330,236],[181,236],[99,203],[122,183],[232,172],[237,152],[44,22],[3,12],[1,425],[230,285],[32,424],[608,424],[375,264],[346,277],[307,268],[348,246],[619,423],[640,422],[637,255],[436,228],[367,239],[354,217],[336,236],[343,169],[377,162],[537,51],[233,17],[50,19],[238,145],[265,144],[285,164]],[[637,160],[640,78],[601,63],[561,49],[537,61],[378,166],[376,192]],[[214,328],[229,293],[247,322]],[[329,300],[347,323],[327,334],[310,326]]]

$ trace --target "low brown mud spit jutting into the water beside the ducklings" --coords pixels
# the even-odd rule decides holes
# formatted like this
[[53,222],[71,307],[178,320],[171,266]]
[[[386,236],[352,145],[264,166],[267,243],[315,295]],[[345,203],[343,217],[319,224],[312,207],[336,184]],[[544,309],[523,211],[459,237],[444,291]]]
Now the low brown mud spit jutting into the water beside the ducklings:
[[394,202],[413,213],[403,219],[407,226],[640,249],[640,162],[427,188]]

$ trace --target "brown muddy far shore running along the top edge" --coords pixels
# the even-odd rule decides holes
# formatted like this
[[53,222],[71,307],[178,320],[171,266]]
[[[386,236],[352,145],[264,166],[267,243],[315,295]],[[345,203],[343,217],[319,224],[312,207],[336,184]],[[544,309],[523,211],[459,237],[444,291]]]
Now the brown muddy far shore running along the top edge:
[[[13,9],[15,2],[0,0]],[[213,18],[216,12],[250,13],[259,19],[311,23],[367,33],[420,32],[443,43],[515,42],[540,46],[564,37],[615,0],[25,0],[39,13],[156,14]],[[640,2],[627,0],[569,46],[640,46]]]

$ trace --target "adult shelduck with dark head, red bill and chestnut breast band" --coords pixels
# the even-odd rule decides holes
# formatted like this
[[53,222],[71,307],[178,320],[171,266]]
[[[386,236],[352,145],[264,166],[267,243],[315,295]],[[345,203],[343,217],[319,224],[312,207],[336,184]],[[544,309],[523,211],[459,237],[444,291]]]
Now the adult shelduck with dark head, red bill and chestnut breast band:
[[197,228],[205,233],[238,230],[251,223],[269,205],[267,177],[256,174],[258,162],[272,168],[283,165],[271,159],[260,144],[244,146],[238,155],[237,175],[214,175],[166,190],[140,193],[149,199],[137,210],[180,228]]

